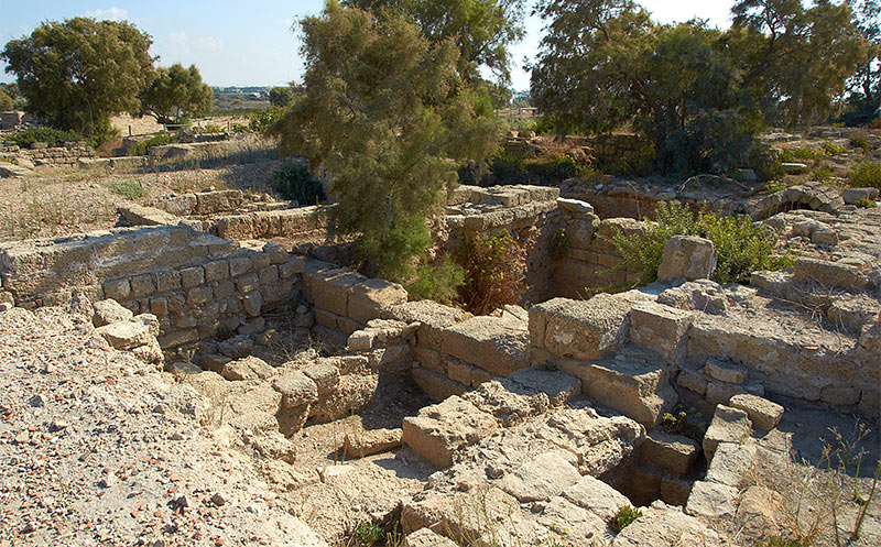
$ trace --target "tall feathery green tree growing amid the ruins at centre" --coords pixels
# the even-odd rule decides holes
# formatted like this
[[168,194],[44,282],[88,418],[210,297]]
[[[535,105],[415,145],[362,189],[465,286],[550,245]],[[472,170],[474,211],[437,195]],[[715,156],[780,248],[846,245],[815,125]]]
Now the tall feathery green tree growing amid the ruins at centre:
[[477,114],[452,40],[333,1],[300,26],[305,91],[275,124],[281,149],[333,175],[333,227],[359,237],[365,271],[412,281],[432,241],[426,218],[458,162],[497,145],[497,124]]

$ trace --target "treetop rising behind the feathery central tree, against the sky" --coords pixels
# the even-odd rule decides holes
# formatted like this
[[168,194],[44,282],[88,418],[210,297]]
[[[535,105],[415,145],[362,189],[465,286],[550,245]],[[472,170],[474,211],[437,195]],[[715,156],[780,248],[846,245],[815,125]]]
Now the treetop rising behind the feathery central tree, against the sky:
[[508,47],[523,37],[523,0],[347,0],[374,14],[403,14],[434,44],[453,39],[459,75],[479,79],[485,66],[502,84],[511,79]]

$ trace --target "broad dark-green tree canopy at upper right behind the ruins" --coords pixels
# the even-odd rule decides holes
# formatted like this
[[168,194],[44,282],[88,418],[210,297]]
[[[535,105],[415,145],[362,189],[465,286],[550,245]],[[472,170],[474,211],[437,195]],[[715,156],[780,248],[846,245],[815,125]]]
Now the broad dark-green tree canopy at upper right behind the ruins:
[[558,132],[631,124],[662,173],[726,172],[765,123],[825,120],[866,43],[847,4],[741,0],[729,31],[659,24],[631,0],[541,0],[531,91]]

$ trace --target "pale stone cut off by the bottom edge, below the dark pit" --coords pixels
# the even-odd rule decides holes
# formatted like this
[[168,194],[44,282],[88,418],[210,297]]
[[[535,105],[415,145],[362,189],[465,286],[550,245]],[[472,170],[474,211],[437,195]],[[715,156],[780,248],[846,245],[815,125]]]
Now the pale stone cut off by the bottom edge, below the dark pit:
[[663,502],[642,510],[642,516],[621,530],[612,547],[717,547],[719,535],[698,518]]

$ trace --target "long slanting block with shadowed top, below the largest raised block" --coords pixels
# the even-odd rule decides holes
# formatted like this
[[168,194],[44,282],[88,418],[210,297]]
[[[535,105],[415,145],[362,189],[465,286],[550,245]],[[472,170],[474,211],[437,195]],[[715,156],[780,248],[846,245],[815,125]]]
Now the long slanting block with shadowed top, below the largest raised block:
[[670,386],[670,369],[660,362],[619,354],[598,362],[564,359],[557,364],[581,379],[586,395],[648,428],[657,425],[677,401]]

